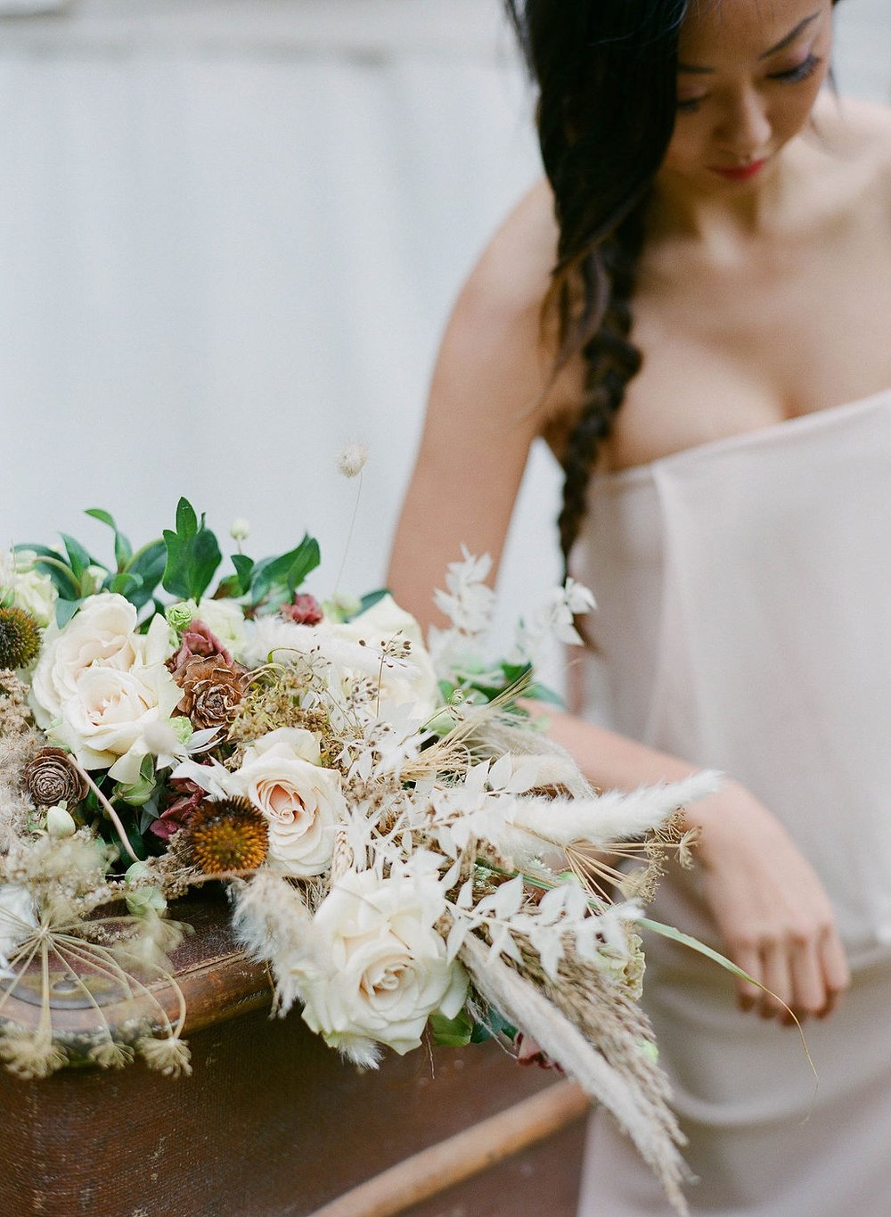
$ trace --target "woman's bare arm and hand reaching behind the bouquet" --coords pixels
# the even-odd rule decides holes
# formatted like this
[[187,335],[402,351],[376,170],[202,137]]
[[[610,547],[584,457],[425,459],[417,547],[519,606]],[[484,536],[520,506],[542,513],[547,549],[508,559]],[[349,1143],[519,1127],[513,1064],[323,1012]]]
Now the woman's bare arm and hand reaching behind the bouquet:
[[[577,400],[577,370],[549,385],[538,338],[556,236],[547,187],[536,187],[496,235],[449,323],[388,577],[424,624],[462,544],[490,554],[497,568],[529,447]],[[695,769],[571,714],[554,716],[552,734],[602,789]],[[829,1013],[847,965],[822,884],[779,821],[728,781],[690,808],[689,823],[701,829],[703,890],[729,957],[799,1016]],[[752,986],[739,985],[739,1002],[786,1017]]]

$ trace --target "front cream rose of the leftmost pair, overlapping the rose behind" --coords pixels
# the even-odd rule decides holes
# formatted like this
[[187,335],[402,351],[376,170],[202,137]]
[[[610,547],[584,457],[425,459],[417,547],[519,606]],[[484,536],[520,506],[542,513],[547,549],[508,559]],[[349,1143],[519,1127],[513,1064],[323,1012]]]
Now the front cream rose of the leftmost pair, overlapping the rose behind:
[[143,730],[169,719],[181,696],[163,663],[135,664],[129,671],[92,664],[78,675],[51,734],[71,747],[85,769],[111,767],[113,778],[134,783],[148,751]]

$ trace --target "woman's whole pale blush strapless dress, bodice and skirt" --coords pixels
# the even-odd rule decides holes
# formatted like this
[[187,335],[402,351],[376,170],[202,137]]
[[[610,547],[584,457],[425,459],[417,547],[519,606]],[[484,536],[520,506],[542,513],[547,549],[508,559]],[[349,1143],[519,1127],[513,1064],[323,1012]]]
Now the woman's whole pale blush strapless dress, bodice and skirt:
[[[891,389],[597,478],[579,550],[599,607],[592,713],[782,819],[853,970],[806,1023],[817,1087],[795,1030],[739,1013],[717,965],[648,942],[692,1208],[891,1217]],[[695,875],[666,876],[650,912],[720,946]],[[594,1115],[580,1213],[669,1211]]]

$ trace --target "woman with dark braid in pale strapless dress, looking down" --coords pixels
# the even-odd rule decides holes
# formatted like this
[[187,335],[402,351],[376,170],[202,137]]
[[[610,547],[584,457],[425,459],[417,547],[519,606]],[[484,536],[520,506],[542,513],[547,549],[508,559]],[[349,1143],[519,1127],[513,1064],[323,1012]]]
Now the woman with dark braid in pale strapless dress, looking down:
[[[598,786],[731,775],[689,809],[697,874],[667,876],[655,915],[777,994],[739,983],[734,1004],[715,965],[648,944],[693,1210],[879,1217],[891,116],[822,89],[831,0],[509,7],[548,180],[449,324],[390,583],[429,619],[461,543],[497,560],[548,441],[615,727],[554,734]],[[816,1095],[784,1003],[811,1020]],[[586,1215],[665,1211],[599,1117],[582,1190]]]

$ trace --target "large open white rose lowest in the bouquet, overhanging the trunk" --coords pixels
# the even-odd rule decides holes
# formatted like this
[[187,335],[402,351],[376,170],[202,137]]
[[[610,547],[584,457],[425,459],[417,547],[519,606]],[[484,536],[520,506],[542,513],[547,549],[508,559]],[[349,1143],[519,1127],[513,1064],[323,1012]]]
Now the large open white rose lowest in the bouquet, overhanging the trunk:
[[428,1017],[455,1017],[467,975],[434,929],[444,902],[433,877],[348,871],[312,922],[312,957],[294,969],[304,1021],[333,1048],[374,1039],[400,1055]]

